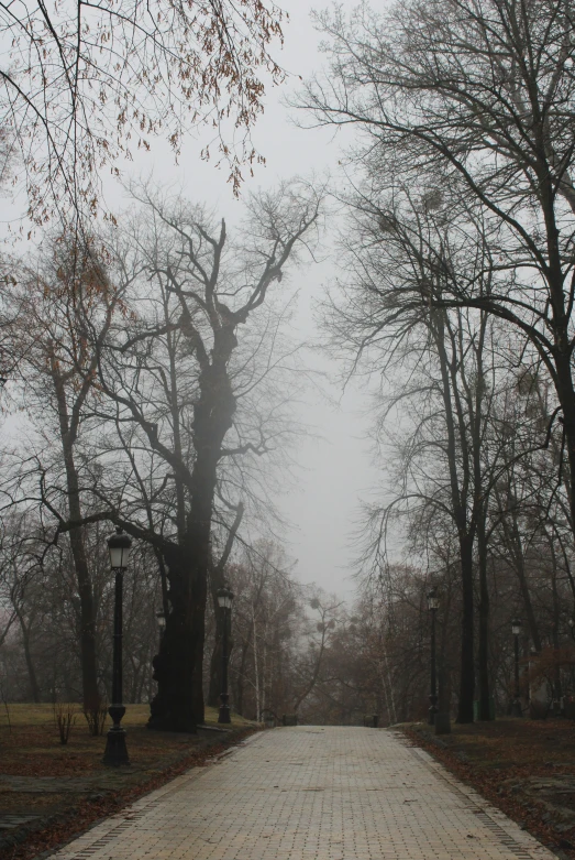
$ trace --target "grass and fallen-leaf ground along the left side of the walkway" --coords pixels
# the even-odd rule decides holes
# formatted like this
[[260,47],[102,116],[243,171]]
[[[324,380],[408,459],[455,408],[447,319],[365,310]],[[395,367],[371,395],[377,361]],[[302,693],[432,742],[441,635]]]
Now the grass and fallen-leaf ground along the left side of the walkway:
[[[102,764],[104,736],[88,733],[81,712],[62,744],[49,705],[12,705],[0,711],[0,856],[29,860],[67,841],[99,818],[164,784],[191,766],[202,766],[256,730],[234,717],[231,731],[214,731],[217,712],[207,709],[197,736],[148,731],[147,705],[128,706],[130,765]],[[108,727],[106,727],[108,728]]]

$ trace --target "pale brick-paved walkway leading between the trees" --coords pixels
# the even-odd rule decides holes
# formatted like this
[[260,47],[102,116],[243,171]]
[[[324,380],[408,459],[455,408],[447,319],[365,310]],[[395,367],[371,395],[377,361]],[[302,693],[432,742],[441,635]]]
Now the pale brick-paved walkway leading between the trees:
[[551,860],[401,734],[250,738],[70,842],[58,860]]

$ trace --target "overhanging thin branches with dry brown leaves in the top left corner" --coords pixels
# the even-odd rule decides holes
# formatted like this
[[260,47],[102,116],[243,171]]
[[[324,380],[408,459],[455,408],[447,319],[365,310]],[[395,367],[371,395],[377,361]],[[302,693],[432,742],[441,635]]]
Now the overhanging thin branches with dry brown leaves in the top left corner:
[[281,78],[268,53],[281,20],[256,0],[2,3],[0,133],[23,160],[29,215],[41,225],[55,207],[64,219],[93,214],[101,167],[118,173],[119,155],[158,134],[177,154],[200,122],[237,190],[257,157],[250,129],[265,76]]

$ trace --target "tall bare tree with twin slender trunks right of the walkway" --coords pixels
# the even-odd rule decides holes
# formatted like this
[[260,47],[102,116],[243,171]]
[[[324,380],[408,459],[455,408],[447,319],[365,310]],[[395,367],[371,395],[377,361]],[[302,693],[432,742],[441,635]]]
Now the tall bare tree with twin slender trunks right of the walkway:
[[385,568],[391,518],[431,509],[451,521],[462,585],[458,720],[473,721],[478,552],[479,699],[488,719],[486,520],[496,461],[486,457],[484,439],[498,384],[494,325],[485,312],[447,309],[442,300],[469,283],[490,293],[490,233],[474,211],[454,208],[429,174],[417,190],[400,177],[383,188],[365,183],[350,204],[346,272],[325,309],[330,349],[345,350],[351,372],[380,374],[376,426],[392,438],[397,464],[392,501],[371,512],[372,571]]

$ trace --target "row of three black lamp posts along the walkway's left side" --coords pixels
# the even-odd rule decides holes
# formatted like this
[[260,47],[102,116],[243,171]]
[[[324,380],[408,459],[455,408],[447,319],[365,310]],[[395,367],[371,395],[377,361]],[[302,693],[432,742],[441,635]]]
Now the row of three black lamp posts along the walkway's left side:
[[[125,714],[123,705],[122,689],[122,607],[124,590],[124,570],[130,562],[130,551],[132,540],[125,532],[118,527],[115,534],[108,538],[108,551],[110,553],[110,566],[115,573],[114,581],[114,627],[113,627],[113,655],[112,655],[112,704],[108,712],[112,719],[112,726],[108,730],[106,740],[106,751],[103,753],[103,763],[111,765],[130,764],[128,748],[125,744],[125,729],[122,728],[122,717]],[[228,694],[228,665],[229,654],[229,631],[230,619],[233,603],[233,594],[226,587],[218,589],[218,605],[223,611],[223,635],[222,635],[222,692],[220,695],[221,706],[218,722],[231,722],[230,718],[230,696]],[[156,613],[159,628],[159,645],[166,628],[166,616],[164,612]]]

